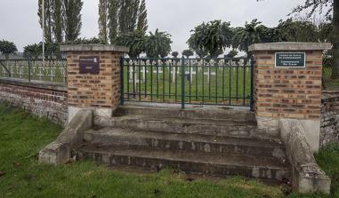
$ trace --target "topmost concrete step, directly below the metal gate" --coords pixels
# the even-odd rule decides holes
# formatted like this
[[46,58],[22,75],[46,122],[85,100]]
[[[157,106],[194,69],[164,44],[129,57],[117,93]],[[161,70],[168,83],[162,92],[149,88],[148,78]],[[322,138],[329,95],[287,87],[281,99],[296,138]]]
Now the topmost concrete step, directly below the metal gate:
[[125,105],[118,107],[113,116],[119,117],[124,115],[151,115],[157,117],[174,117],[174,118],[190,118],[190,119],[217,119],[243,121],[247,123],[255,123],[254,113],[245,109],[233,109],[226,107],[214,108],[194,108],[186,109],[175,107],[140,107],[133,105]]

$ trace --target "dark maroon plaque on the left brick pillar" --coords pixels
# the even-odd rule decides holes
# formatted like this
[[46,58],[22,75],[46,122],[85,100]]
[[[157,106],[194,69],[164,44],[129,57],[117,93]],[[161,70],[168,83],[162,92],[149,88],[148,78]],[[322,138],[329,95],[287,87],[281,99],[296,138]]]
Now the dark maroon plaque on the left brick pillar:
[[84,56],[79,58],[80,74],[99,75],[100,58],[99,56]]

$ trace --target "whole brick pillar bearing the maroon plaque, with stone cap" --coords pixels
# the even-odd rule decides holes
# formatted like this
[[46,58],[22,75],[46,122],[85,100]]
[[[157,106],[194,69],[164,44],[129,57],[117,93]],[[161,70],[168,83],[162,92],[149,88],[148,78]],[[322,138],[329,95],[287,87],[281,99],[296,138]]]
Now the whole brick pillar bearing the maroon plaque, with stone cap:
[[125,47],[103,44],[63,45],[67,51],[69,121],[80,108],[111,116],[120,99],[119,59]]

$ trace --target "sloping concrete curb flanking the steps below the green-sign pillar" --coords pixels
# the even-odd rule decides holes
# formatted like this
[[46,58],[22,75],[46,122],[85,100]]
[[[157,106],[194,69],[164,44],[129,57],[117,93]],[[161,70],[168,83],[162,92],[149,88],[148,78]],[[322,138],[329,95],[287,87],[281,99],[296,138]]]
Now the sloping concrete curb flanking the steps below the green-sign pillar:
[[330,193],[331,179],[319,168],[299,120],[280,119],[280,136],[292,165],[293,188],[302,194]]

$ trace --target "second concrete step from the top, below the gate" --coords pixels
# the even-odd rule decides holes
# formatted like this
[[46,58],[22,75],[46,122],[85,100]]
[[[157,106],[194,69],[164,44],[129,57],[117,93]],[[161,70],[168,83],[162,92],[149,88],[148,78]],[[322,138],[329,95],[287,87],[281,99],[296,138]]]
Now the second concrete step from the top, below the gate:
[[124,115],[95,117],[94,124],[102,128],[125,128],[141,131],[175,132],[200,135],[237,136],[253,138],[267,136],[254,123],[217,119],[159,117],[154,115]]

